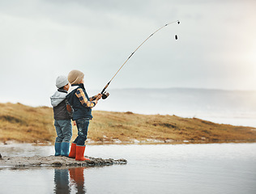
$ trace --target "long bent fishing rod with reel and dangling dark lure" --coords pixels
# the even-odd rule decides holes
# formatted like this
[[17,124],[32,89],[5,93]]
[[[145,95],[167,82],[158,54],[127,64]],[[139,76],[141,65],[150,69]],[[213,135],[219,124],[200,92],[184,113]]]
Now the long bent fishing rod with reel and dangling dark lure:
[[[174,21],[174,22],[167,23],[167,24],[165,24],[164,26],[158,28],[158,29],[156,30],[156,32],[159,32],[162,28],[164,28],[164,27],[166,27],[166,26],[168,26],[169,24],[172,24],[172,23],[180,24],[180,21],[179,21],[179,20],[176,20],[176,21]],[[119,70],[117,70],[117,73],[113,75],[113,78],[116,77],[116,75],[118,74],[118,72],[122,69],[122,67],[123,67],[123,66],[126,64],[126,62],[130,59],[130,57],[133,56],[134,53],[135,53],[151,36],[153,36],[154,34],[156,34],[156,32],[153,32],[150,36],[148,36],[147,39],[144,40],[142,44],[139,44],[139,47],[137,47],[137,48],[134,50],[134,52],[130,54],[130,56],[129,56],[129,57],[126,59],[126,61],[122,64],[122,66],[119,68]],[[177,35],[175,35],[174,37],[175,37],[175,40],[177,40]],[[102,99],[108,98],[109,93],[106,92],[106,89],[108,88],[110,82],[112,82],[113,78],[110,79],[110,81],[107,83],[107,85],[106,85],[106,86],[103,88],[103,90],[100,92],[100,94],[102,95]]]

